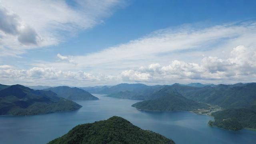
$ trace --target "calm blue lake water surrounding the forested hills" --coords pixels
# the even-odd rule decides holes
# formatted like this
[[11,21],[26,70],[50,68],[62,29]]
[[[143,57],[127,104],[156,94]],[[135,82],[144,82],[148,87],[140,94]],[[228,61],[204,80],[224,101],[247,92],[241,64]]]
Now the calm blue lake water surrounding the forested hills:
[[255,144],[256,131],[230,131],[207,125],[213,118],[191,112],[147,112],[131,107],[138,100],[105,97],[76,101],[74,112],[37,116],[0,116],[0,144],[45,144],[74,126],[121,116],[145,130],[171,138],[176,144]]

